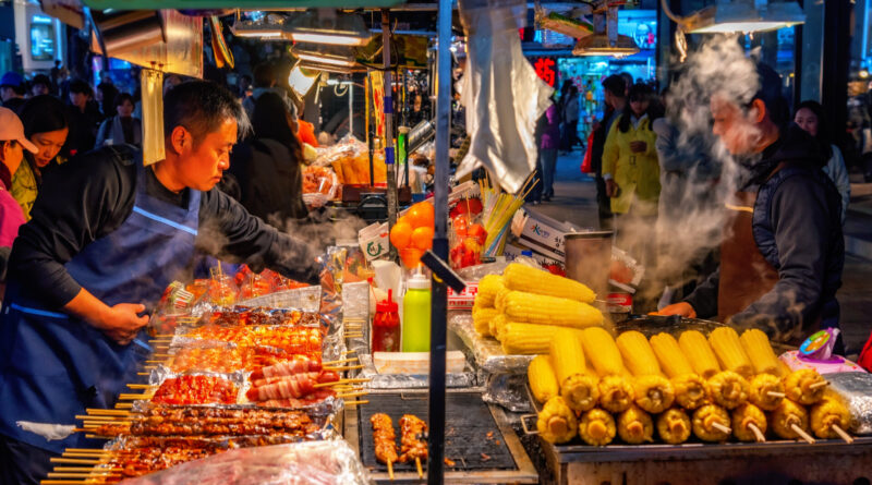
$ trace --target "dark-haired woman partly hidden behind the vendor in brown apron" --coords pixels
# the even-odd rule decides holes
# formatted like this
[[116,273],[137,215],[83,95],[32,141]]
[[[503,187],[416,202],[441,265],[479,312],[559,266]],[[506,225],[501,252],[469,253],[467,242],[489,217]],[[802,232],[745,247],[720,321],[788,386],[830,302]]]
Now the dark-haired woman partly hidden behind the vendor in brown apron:
[[829,177],[829,180],[836,184],[836,190],[841,196],[841,225],[845,226],[848,203],[851,199],[851,182],[848,180],[848,168],[845,166],[841,150],[833,144],[823,106],[812,100],[800,102],[794,112],[794,122],[816,138],[821,145],[821,150],[826,158],[826,165],[822,169]]

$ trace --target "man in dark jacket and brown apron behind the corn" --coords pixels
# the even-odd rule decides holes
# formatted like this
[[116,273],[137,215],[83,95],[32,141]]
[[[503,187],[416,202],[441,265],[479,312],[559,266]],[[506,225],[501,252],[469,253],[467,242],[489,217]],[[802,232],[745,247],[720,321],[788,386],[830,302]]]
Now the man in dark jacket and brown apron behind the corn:
[[732,220],[720,267],[664,315],[714,317],[796,343],[837,327],[845,243],[838,192],[821,170],[820,147],[786,121],[780,80],[758,66],[761,88],[743,106],[715,96],[713,132],[747,169],[726,208]]

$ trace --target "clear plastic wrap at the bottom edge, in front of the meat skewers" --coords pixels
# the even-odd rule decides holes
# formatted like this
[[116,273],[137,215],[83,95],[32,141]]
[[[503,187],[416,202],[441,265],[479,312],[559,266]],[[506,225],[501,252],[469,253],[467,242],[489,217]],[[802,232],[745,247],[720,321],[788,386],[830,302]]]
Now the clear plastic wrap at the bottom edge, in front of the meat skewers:
[[229,450],[125,482],[128,485],[371,484],[358,454],[342,440]]

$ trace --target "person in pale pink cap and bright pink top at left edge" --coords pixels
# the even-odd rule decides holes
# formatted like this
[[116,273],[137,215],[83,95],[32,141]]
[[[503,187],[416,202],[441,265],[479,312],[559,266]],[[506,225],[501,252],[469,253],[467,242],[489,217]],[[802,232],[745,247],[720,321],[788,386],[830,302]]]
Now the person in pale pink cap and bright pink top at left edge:
[[[12,198],[9,187],[12,173],[19,169],[24,150],[37,153],[36,145],[24,136],[24,125],[19,116],[8,108],[0,108],[0,281],[7,279],[7,260],[12,241],[24,223],[24,214]],[[2,294],[2,293],[0,293]]]

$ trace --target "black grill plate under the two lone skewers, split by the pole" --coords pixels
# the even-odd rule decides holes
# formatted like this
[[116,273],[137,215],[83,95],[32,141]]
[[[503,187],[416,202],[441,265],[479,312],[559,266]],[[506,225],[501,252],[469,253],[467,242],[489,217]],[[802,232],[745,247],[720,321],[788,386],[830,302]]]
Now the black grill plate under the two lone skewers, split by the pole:
[[[370,417],[386,413],[393,421],[397,433],[397,452],[400,452],[399,421],[403,414],[414,414],[429,424],[427,419],[427,396],[413,395],[370,395],[368,404],[360,407],[361,458],[363,464],[379,472],[387,472],[387,465],[375,459],[373,426]],[[479,392],[449,392],[446,396],[445,457],[455,466],[445,465],[448,471],[471,470],[516,470],[506,439],[499,433],[494,416]],[[488,434],[491,436],[488,437]],[[482,454],[484,453],[484,456]],[[395,472],[415,470],[414,463],[393,463]]]

